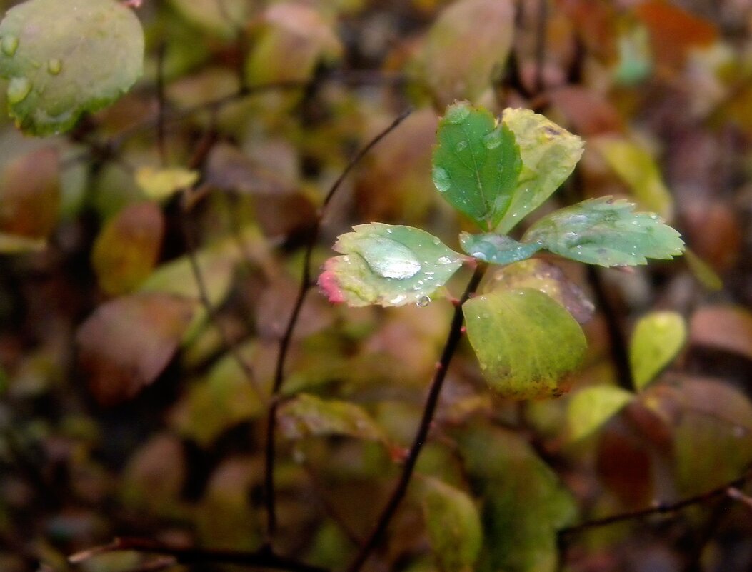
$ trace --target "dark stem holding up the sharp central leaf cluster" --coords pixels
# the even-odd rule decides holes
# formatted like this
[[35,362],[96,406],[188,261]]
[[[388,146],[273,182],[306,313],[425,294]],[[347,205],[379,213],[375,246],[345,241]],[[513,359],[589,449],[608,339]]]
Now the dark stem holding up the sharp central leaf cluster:
[[348,572],[357,572],[360,570],[371,552],[376,549],[381,539],[384,537],[384,533],[387,531],[387,527],[393,519],[399,504],[402,502],[402,498],[405,497],[405,493],[408,491],[408,485],[413,476],[415,470],[415,464],[417,463],[420,451],[423,449],[423,445],[426,443],[426,437],[428,437],[429,430],[431,428],[431,422],[436,412],[436,406],[438,405],[438,398],[441,395],[441,387],[444,385],[444,380],[447,377],[447,371],[449,365],[452,362],[454,353],[456,352],[459,340],[462,337],[462,323],[465,318],[462,313],[462,304],[470,298],[472,294],[478,289],[478,285],[486,273],[487,265],[479,263],[475,268],[475,272],[472,278],[468,282],[465,292],[462,294],[462,298],[459,299],[459,303],[454,308],[454,316],[449,328],[449,334],[447,334],[447,341],[444,344],[444,351],[441,353],[441,360],[436,367],[436,374],[431,383],[429,389],[428,398],[426,398],[426,406],[423,408],[423,417],[420,419],[420,426],[413,440],[413,444],[408,453],[407,459],[405,459],[405,465],[402,467],[402,474],[399,477],[392,495],[387,501],[384,510],[381,511],[381,515],[376,522],[371,534],[368,536],[368,540],[365,541],[362,548],[353,559],[350,567],[347,568]]

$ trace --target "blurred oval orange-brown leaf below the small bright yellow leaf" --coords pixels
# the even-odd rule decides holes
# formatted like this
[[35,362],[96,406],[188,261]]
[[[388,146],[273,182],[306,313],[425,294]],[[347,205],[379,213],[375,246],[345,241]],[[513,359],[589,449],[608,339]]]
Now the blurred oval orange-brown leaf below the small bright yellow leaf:
[[99,286],[111,295],[132,291],[159,257],[165,222],[153,202],[131,204],[108,221],[92,251]]

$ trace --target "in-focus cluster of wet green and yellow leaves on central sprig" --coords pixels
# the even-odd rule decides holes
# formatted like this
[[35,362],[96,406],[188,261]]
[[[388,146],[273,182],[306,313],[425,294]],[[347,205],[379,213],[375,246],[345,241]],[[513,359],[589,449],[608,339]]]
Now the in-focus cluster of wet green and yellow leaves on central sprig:
[[[548,250],[593,265],[643,265],[681,254],[684,243],[658,215],[636,213],[631,202],[611,197],[556,210],[520,241],[511,238],[583,152],[581,138],[531,110],[506,109],[496,120],[481,107],[455,103],[437,139],[435,187],[481,229],[459,236],[465,254],[419,228],[371,222],[338,237],[341,256],[326,261],[319,285],[330,301],[352,307],[422,306],[462,264],[477,265],[462,310],[488,382],[507,397],[560,395],[586,349],[572,315],[581,312],[560,295],[563,275],[555,267],[527,259]],[[469,298],[489,264],[510,266]]]

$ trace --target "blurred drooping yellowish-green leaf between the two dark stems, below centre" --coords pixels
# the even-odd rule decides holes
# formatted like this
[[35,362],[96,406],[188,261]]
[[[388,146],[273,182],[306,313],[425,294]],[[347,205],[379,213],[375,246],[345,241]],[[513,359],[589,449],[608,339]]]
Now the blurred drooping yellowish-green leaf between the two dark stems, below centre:
[[347,401],[325,401],[304,393],[280,406],[279,425],[288,439],[310,435],[347,435],[375,441],[385,439],[384,431],[362,407]]

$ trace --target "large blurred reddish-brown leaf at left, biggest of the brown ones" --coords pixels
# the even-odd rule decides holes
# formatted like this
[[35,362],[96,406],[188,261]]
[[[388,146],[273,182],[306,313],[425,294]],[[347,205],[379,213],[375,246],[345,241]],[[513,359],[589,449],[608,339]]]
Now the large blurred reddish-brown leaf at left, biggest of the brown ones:
[[172,359],[196,302],[149,293],[102,304],[76,334],[89,387],[103,405],[152,383]]

